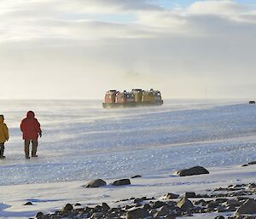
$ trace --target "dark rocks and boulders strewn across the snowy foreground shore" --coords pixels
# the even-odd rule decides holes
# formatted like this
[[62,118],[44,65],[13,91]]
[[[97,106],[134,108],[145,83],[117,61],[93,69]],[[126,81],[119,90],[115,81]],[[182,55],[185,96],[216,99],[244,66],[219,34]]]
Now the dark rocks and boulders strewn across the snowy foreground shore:
[[[180,171],[177,173],[180,174]],[[208,173],[205,172],[204,174]],[[129,179],[121,179],[112,183],[113,186],[129,186],[130,184]],[[84,187],[102,187],[105,185],[106,182],[98,179],[89,182]],[[256,219],[255,195],[256,184],[252,182],[218,187],[213,190],[207,190],[205,193],[188,191],[183,194],[166,193],[158,199],[154,199],[154,197],[123,199],[116,201],[117,207],[114,208],[110,208],[107,203],[102,203],[102,205],[96,205],[95,207],[81,206],[79,203],[67,204],[61,210],[57,210],[52,214],[44,215],[43,212],[38,212],[35,218],[174,219],[194,216],[195,214],[201,215],[203,218],[205,213],[214,213],[216,219]]]

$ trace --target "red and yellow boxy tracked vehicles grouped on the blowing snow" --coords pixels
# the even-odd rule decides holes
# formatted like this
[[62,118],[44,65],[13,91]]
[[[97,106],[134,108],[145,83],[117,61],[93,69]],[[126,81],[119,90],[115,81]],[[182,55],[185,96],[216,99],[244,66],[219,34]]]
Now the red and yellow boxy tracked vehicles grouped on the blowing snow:
[[104,108],[112,107],[139,107],[139,106],[161,106],[163,105],[161,93],[159,90],[132,89],[120,92],[110,89],[105,94],[105,100],[102,103]]

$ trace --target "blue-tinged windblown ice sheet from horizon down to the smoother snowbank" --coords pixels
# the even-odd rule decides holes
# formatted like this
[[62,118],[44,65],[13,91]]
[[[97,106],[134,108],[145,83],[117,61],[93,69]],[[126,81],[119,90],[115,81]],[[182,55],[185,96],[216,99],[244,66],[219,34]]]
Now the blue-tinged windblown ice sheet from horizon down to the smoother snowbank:
[[[11,138],[0,161],[1,185],[166,174],[256,160],[256,113],[248,104],[165,101],[162,107],[107,111],[101,101],[9,106],[3,108]],[[29,161],[17,127],[25,106],[43,129],[39,157]]]

